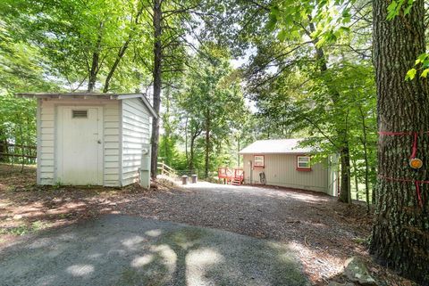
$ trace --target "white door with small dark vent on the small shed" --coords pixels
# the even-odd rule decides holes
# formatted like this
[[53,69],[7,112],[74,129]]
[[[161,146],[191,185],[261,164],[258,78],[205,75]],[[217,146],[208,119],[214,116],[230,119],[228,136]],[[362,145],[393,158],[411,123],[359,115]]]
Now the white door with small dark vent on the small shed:
[[62,184],[103,184],[103,109],[59,106],[56,179]]

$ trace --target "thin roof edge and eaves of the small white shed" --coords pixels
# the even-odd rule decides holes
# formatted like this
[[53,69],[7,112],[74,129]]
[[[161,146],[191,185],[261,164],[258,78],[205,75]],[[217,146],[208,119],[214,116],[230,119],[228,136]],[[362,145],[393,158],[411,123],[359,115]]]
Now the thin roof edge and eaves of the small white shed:
[[97,93],[21,93],[15,94],[16,96],[24,98],[57,98],[57,99],[68,99],[68,98],[79,98],[83,100],[87,99],[111,99],[111,100],[124,100],[129,98],[140,98],[141,101],[147,107],[147,110],[152,114],[153,117],[157,118],[156,111],[147,100],[145,94],[97,94]]

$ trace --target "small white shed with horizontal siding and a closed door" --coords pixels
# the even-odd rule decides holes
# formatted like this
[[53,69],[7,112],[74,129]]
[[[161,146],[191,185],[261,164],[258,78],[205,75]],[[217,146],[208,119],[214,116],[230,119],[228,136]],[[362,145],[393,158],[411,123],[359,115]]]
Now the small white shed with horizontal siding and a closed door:
[[144,94],[17,95],[38,100],[38,184],[139,181],[157,116]]

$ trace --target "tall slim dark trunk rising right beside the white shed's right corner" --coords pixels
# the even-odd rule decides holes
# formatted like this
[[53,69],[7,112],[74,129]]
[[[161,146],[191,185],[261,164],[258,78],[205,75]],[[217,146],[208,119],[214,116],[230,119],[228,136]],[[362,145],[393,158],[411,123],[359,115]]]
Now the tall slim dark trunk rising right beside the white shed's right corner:
[[[163,60],[163,47],[161,43],[162,36],[162,8],[161,0],[154,0],[154,109],[156,114],[159,114],[161,106],[161,86],[162,86],[162,60]],[[159,118],[153,118],[152,120],[152,154],[151,154],[151,167],[150,174],[153,179],[156,179],[157,162],[158,162],[158,145],[159,145]]]

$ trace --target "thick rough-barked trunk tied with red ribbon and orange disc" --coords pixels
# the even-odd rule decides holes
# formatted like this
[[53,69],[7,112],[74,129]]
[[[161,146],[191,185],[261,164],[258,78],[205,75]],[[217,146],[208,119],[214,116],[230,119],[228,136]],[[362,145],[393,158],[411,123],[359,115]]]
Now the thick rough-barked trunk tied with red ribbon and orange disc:
[[[407,2],[406,2],[407,3]],[[416,57],[425,53],[425,6],[416,0],[407,16],[386,20],[391,1],[374,0],[374,67],[380,132],[429,130],[427,79],[405,81]],[[404,276],[429,285],[429,186],[419,207],[414,180],[428,180],[429,135],[418,136],[416,157],[424,167],[408,166],[413,135],[381,135],[378,143],[378,197],[370,251]],[[401,180],[411,180],[401,181]]]

